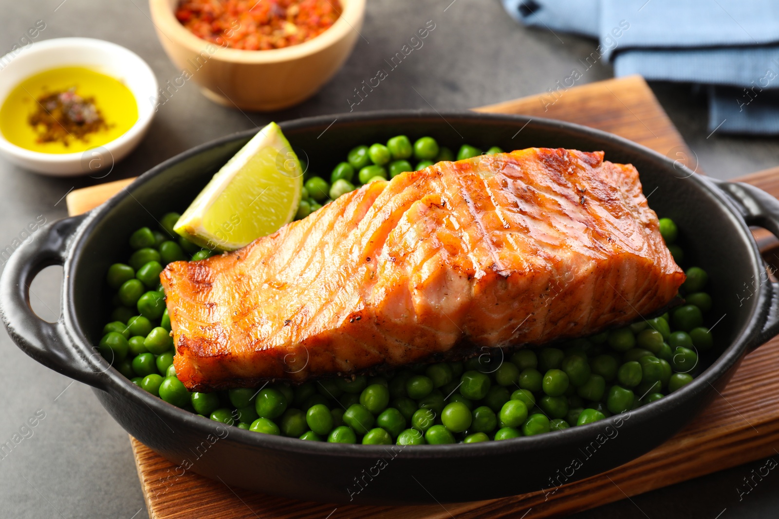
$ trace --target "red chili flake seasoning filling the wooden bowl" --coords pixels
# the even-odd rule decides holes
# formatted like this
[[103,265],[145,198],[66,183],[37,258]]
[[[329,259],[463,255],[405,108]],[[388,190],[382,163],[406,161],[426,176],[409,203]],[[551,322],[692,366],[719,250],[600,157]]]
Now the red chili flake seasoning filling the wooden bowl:
[[340,12],[338,0],[182,0],[176,18],[203,40],[266,51],[319,36]]

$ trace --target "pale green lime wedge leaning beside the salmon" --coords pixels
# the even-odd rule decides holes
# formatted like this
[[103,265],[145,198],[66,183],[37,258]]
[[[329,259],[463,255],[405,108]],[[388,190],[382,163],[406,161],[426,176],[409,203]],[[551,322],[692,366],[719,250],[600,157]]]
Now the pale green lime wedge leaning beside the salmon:
[[291,222],[302,188],[298,156],[272,122],[213,176],[173,229],[202,247],[234,251]]

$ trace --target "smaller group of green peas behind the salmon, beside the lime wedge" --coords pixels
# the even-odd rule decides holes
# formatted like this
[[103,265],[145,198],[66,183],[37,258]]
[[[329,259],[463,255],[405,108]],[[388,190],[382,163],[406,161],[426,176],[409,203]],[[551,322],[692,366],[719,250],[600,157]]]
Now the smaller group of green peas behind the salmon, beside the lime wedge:
[[[421,137],[412,144],[406,135],[396,135],[386,144],[376,142],[371,146],[357,146],[347,153],[344,162],[333,168],[330,182],[323,177],[306,178],[295,219],[305,218],[322,207],[323,203],[335,200],[368,182],[386,181],[405,171],[422,170],[442,160],[464,160],[502,151],[498,146],[493,146],[482,152],[481,149],[464,144],[455,156],[451,149],[439,146],[432,137]],[[415,167],[411,166],[411,160],[416,161]]]

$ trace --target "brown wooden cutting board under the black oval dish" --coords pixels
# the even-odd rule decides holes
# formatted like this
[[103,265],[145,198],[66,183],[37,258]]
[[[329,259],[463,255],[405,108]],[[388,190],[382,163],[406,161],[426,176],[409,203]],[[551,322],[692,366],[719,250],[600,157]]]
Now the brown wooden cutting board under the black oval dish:
[[[694,159],[647,83],[638,76],[590,83],[556,96],[524,97],[478,109],[576,122],[622,135],[696,168]],[[100,184],[68,195],[70,214],[93,209],[132,179]],[[744,177],[779,196],[779,169]],[[554,517],[587,510],[724,468],[776,454],[779,442],[779,338],[753,352],[728,386],[681,433],[661,447],[610,472],[561,486],[476,503],[418,507],[356,507],[308,503],[230,488],[192,473],[171,479],[174,465],[130,438],[138,475],[153,519],[446,519]],[[760,387],[759,393],[755,388]],[[714,390],[713,390],[714,391]],[[758,396],[759,395],[759,398]],[[171,484],[171,480],[173,483]]]

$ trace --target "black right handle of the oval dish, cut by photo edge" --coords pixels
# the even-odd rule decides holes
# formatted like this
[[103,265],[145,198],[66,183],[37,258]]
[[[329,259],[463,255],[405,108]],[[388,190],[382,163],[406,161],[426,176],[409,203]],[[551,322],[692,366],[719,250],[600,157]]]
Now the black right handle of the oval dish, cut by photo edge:
[[[743,182],[713,181],[733,202],[747,225],[763,227],[779,238],[779,200],[766,191]],[[779,283],[769,282],[766,322],[749,349],[767,342],[779,334]]]

